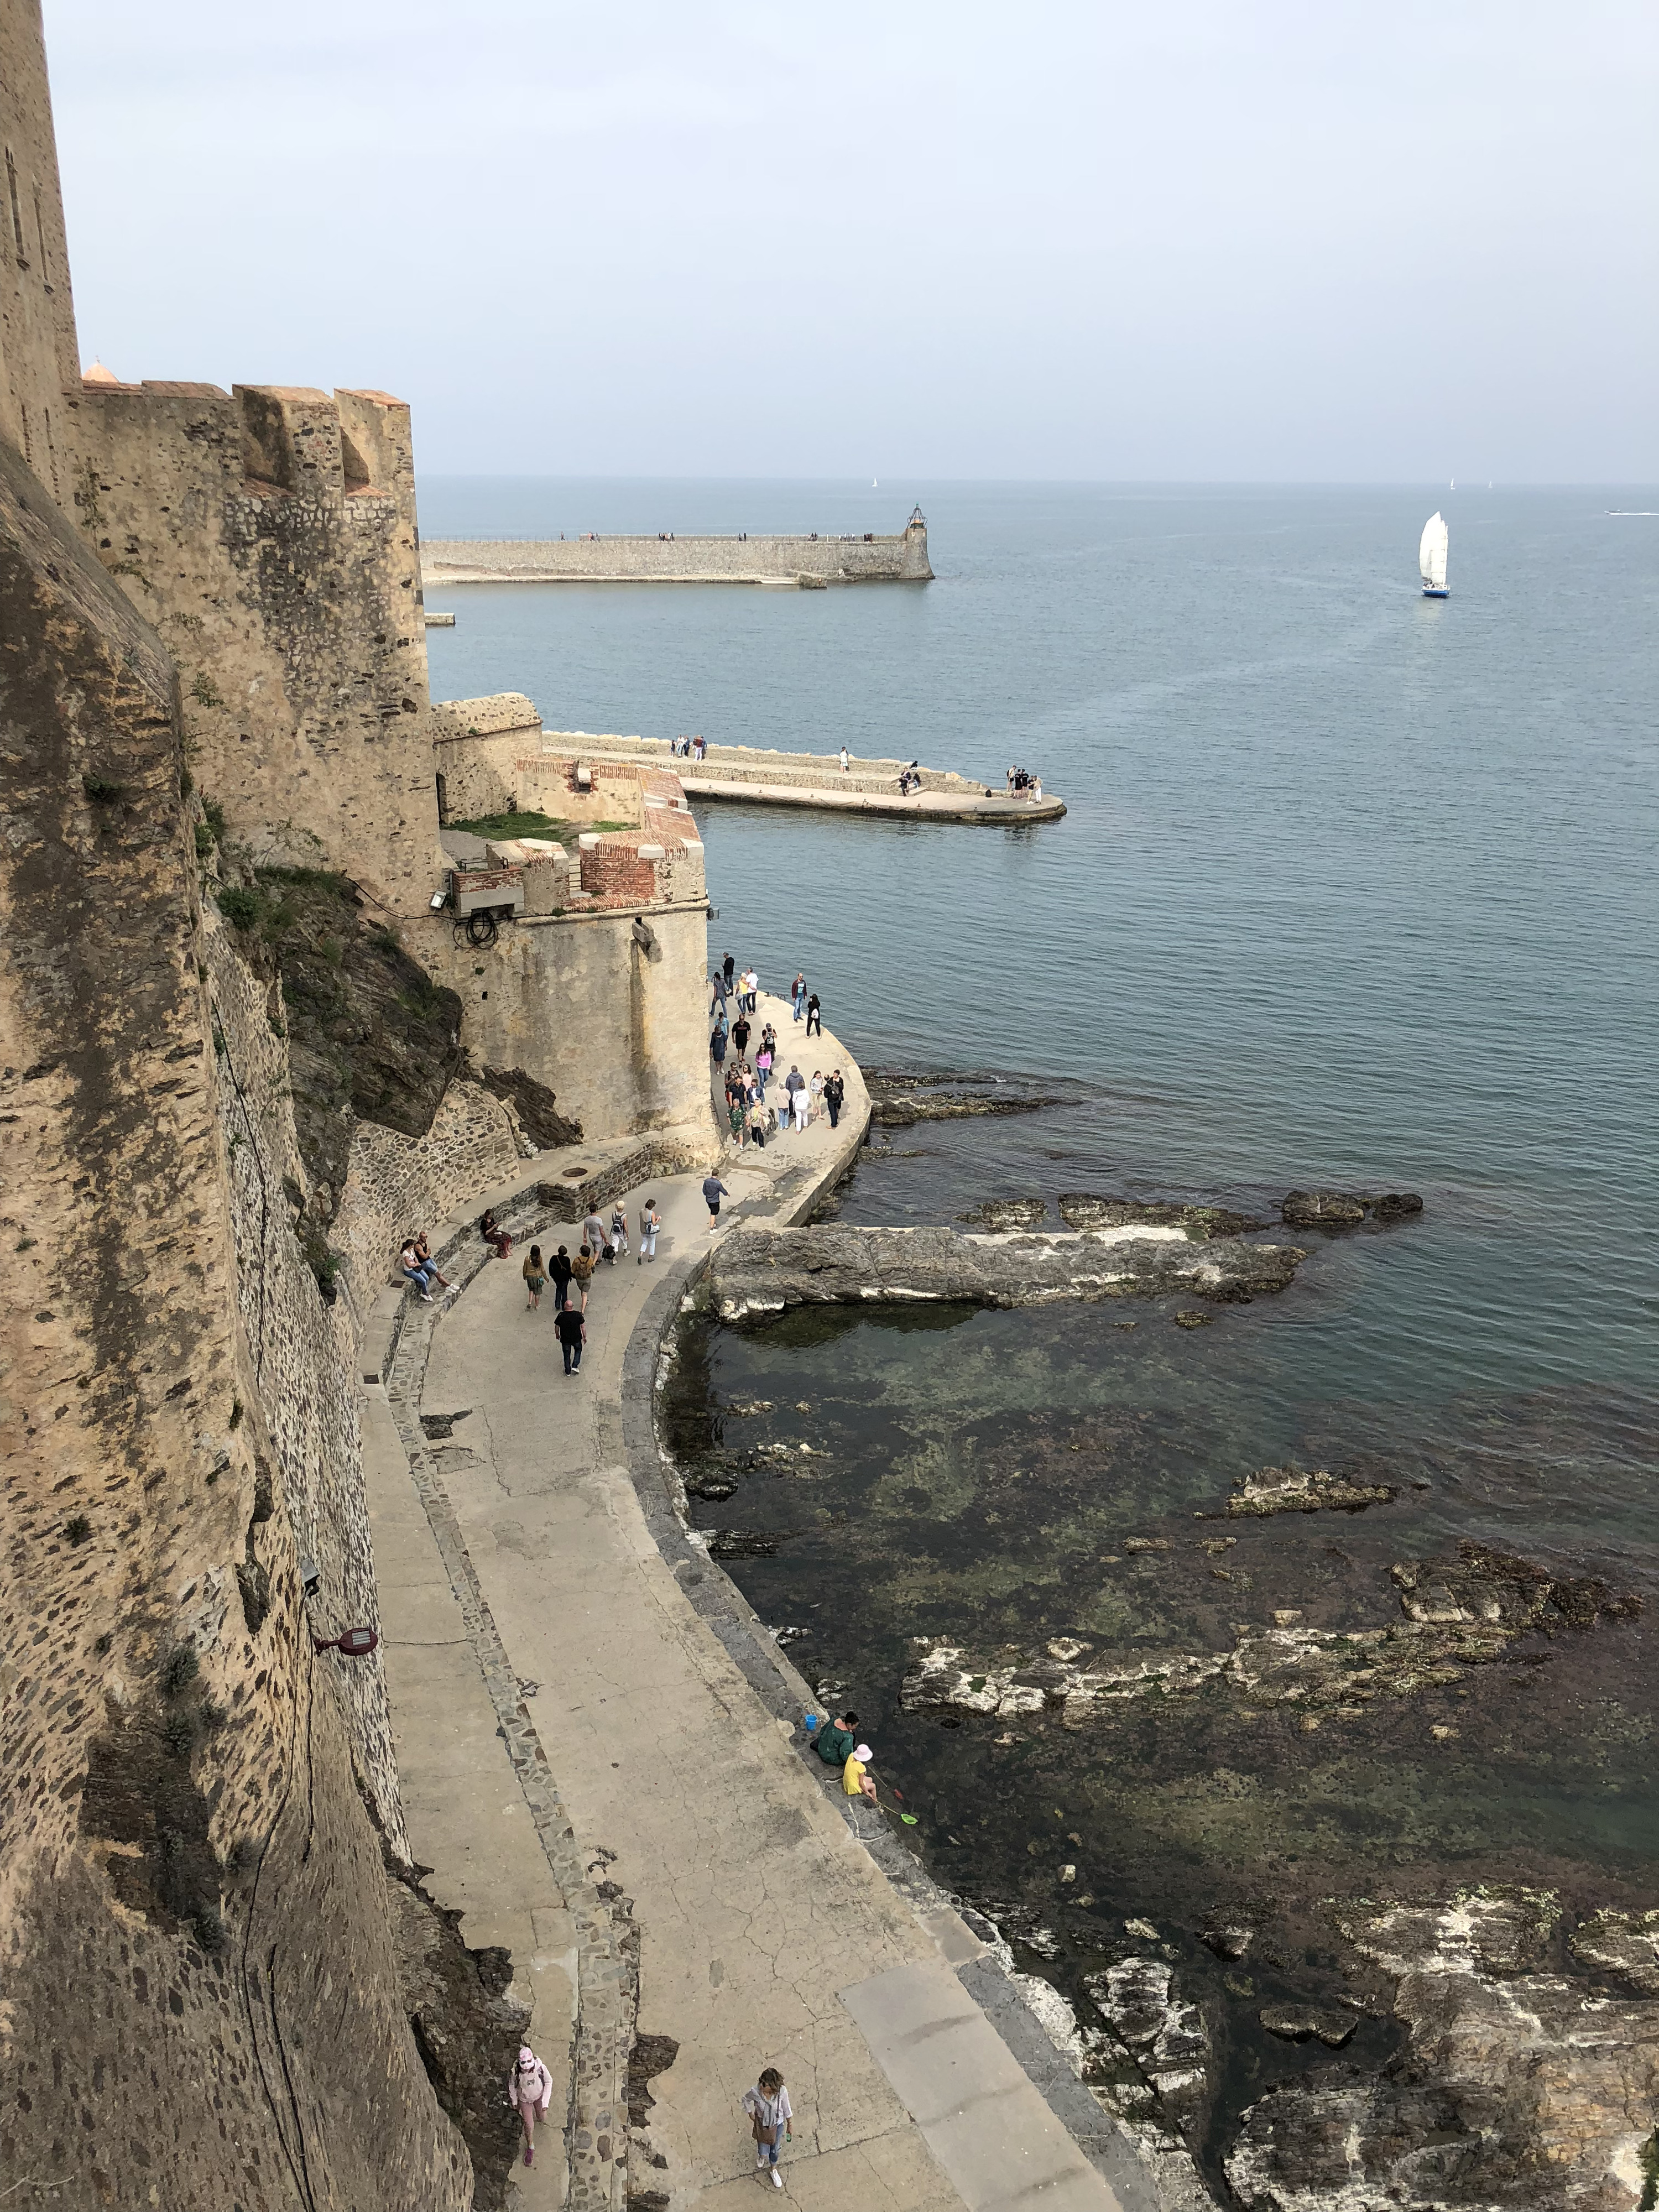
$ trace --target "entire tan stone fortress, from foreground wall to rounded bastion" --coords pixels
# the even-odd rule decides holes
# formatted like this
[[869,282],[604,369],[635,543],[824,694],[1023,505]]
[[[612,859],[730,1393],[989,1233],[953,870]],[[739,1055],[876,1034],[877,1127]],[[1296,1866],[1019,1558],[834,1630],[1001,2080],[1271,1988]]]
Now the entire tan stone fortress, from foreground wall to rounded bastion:
[[[40,7],[0,0],[0,2170],[66,2208],[471,2203],[380,1661],[312,1641],[376,1621],[367,1314],[533,1148],[513,1084],[602,1071],[593,1137],[710,1119],[684,794],[564,796],[626,832],[562,883],[500,854],[529,911],[456,947],[407,409],[82,380]],[[400,938],[427,1033],[462,998],[427,1126],[330,1108],[334,1190],[272,869]]]

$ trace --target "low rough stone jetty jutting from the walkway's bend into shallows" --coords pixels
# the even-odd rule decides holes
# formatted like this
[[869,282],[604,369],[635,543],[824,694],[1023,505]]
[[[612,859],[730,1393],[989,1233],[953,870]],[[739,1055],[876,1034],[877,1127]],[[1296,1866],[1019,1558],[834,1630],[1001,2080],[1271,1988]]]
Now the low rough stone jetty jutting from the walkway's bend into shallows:
[[1243,1305],[1283,1290],[1305,1256],[1296,1245],[1252,1245],[1237,1237],[1192,1243],[1179,1228],[1144,1223],[1068,1237],[821,1223],[739,1230],[714,1254],[708,1290],[728,1323],[790,1305],[914,1298],[1009,1307],[1183,1292]]

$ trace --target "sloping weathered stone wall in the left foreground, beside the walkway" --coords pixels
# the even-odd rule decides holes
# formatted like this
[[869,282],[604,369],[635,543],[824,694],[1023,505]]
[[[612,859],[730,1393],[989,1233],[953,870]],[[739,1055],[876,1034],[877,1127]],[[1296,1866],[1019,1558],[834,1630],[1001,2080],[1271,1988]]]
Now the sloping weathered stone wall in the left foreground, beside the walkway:
[[69,2212],[462,2212],[354,1772],[374,1674],[301,1597],[327,1475],[290,1500],[243,1329],[305,1334],[274,1099],[259,1175],[221,1135],[259,1006],[199,927],[181,765],[155,630],[0,440],[0,2170]]

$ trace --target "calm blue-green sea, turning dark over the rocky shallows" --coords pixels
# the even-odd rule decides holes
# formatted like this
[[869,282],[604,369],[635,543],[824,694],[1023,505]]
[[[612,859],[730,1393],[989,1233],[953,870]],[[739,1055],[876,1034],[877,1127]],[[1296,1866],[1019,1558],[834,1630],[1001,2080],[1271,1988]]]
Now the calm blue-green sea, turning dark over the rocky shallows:
[[[1641,1889],[1659,520],[1608,509],[1659,495],[434,482],[422,526],[863,531],[914,498],[927,586],[445,586],[460,624],[429,633],[434,692],[520,688],[553,728],[845,739],[995,785],[1020,761],[1066,799],[1029,830],[703,810],[712,958],[770,984],[805,967],[865,1062],[1082,1084],[1044,1115],[896,1133],[845,1217],[1060,1190],[1270,1217],[1310,1183],[1420,1190],[1425,1214],[1303,1234],[1290,1292],[1190,1334],[1155,1305],[701,1332],[672,1405],[688,1462],[763,1438],[827,1453],[814,1480],[745,1473],[701,1517],[776,1540],[732,1571],[765,1619],[810,1630],[810,1679],[856,1694],[914,1847],[1073,1989],[1121,1916],[1188,1942],[1252,1880]],[[1416,582],[1433,507],[1447,602]],[[1192,1515],[1285,1460],[1402,1498],[1245,1524],[1223,1584]],[[1133,1533],[1175,1551],[1128,1557]],[[1272,1719],[1248,1745],[1197,1712],[1110,1745],[995,1745],[898,1710],[916,1632],[1190,1650],[1281,1606],[1398,1619],[1389,1564],[1460,1540],[1646,1593],[1648,1615],[1376,1714],[1340,1752]],[[1068,1889],[1055,1854],[1079,1865]],[[1243,2028],[1237,2051],[1212,2148],[1265,2064]]]

